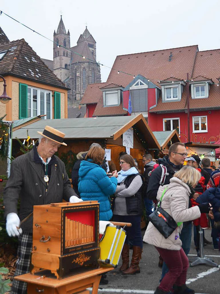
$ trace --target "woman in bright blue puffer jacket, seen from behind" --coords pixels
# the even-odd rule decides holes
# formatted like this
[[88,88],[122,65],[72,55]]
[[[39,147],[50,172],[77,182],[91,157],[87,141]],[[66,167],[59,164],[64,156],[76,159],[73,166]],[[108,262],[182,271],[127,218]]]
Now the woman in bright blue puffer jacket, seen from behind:
[[105,151],[99,146],[92,147],[85,160],[81,161],[79,168],[79,195],[83,201],[98,200],[99,220],[110,220],[112,217],[109,195],[116,191],[117,171],[109,178],[101,168]]

